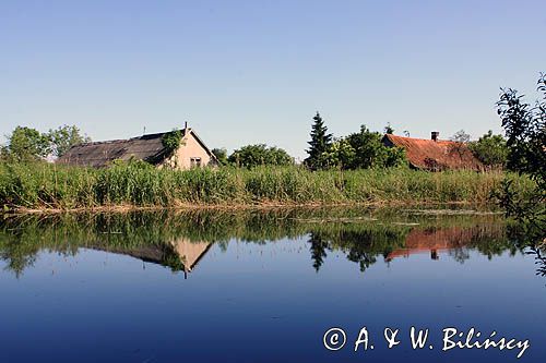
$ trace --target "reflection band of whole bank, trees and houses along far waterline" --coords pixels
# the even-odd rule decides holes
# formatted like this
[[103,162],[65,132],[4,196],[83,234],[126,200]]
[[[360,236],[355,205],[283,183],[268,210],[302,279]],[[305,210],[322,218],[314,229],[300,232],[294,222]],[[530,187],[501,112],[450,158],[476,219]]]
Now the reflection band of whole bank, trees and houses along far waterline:
[[[17,277],[38,254],[75,255],[81,249],[128,255],[191,273],[213,244],[307,240],[310,264],[320,271],[331,253],[365,271],[378,259],[396,263],[414,254],[440,254],[464,263],[475,250],[492,258],[505,252],[532,253],[546,275],[538,247],[512,233],[496,214],[422,213],[388,209],[275,209],[252,211],[131,213],[20,216],[0,223],[0,258]],[[514,237],[515,235],[515,237]]]

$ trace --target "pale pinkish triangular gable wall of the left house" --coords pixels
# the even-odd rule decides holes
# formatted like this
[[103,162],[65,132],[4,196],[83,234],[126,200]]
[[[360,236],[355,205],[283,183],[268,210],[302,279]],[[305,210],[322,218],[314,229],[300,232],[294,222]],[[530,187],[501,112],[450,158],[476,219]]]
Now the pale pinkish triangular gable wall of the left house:
[[[200,160],[200,162],[198,162],[198,160]],[[189,131],[187,135],[183,136],[178,150],[176,150],[173,157],[165,161],[165,165],[175,169],[186,170],[198,166],[215,166],[215,162],[209,153],[206,153],[206,149],[203,148],[193,136],[193,133]]]

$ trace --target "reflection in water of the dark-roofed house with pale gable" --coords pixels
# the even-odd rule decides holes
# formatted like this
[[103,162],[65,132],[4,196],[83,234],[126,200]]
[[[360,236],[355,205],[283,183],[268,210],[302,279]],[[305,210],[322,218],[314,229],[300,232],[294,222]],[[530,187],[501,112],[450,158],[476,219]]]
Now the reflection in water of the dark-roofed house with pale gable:
[[187,274],[193,270],[211,245],[211,242],[192,242],[180,238],[161,244],[151,243],[134,247],[102,245],[95,249],[168,266],[175,271],[183,270],[185,277],[187,277]]

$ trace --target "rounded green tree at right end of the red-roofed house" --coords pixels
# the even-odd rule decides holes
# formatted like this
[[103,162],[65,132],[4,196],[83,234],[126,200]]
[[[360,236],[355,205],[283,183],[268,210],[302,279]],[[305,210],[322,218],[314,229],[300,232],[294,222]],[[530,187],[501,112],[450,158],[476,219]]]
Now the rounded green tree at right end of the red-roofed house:
[[507,162],[507,141],[502,135],[494,135],[491,130],[478,141],[468,143],[468,148],[482,164],[489,168],[501,169]]

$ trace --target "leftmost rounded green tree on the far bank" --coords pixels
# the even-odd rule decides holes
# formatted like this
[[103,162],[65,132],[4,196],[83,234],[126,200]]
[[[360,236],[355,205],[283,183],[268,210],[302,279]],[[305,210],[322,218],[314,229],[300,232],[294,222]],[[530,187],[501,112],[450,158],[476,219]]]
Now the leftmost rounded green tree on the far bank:
[[15,160],[38,160],[49,152],[49,137],[35,129],[16,126],[8,136],[8,154]]

